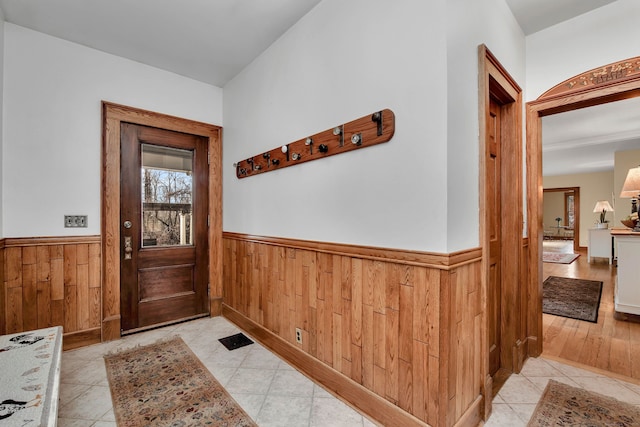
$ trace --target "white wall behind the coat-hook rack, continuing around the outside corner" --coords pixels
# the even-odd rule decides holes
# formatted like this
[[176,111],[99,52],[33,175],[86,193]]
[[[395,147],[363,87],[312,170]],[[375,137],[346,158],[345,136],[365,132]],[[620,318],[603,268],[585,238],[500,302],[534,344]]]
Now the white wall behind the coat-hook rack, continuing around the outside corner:
[[[523,72],[523,54],[512,55],[524,44],[502,40],[514,34],[511,18],[458,46],[466,33],[447,29],[449,7],[324,0],[228,83],[224,230],[437,252],[477,246],[477,45],[491,33],[497,53]],[[459,89],[450,90],[452,78]],[[396,114],[386,144],[235,177],[238,160],[382,108]]]

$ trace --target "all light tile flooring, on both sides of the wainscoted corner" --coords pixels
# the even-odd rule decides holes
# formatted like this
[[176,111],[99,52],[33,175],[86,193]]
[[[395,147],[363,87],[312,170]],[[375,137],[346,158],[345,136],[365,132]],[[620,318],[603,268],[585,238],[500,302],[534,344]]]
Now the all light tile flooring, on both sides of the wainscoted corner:
[[[222,317],[167,326],[62,354],[60,427],[116,425],[103,355],[180,335],[261,427],[372,427],[375,424],[255,342],[228,351],[218,338],[241,332]],[[247,334],[248,335],[248,334]],[[493,401],[485,424],[525,426],[549,379],[640,406],[640,386],[543,358],[529,359]]]

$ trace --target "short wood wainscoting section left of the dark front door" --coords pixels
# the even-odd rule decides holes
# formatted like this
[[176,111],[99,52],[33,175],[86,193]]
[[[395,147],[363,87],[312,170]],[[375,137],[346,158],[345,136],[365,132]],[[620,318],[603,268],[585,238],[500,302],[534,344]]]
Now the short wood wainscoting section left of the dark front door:
[[74,347],[100,342],[99,236],[11,238],[0,250],[0,333],[62,326],[65,348],[72,335]]

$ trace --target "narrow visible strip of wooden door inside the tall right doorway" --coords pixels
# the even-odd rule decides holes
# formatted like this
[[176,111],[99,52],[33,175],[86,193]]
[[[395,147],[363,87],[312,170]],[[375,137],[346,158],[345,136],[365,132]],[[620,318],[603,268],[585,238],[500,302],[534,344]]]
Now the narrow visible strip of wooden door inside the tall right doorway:
[[489,278],[487,283],[487,316],[489,319],[489,374],[500,368],[502,256],[501,179],[500,179],[500,106],[492,99],[487,115],[486,136],[486,209],[489,218]]

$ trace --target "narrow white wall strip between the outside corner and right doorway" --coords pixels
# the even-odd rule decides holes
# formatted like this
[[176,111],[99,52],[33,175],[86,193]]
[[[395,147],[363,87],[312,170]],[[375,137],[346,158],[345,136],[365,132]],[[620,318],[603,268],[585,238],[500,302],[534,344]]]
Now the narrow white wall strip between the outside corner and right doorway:
[[453,252],[479,245],[478,46],[486,45],[523,86],[525,40],[504,0],[448,0],[447,16],[447,251]]

